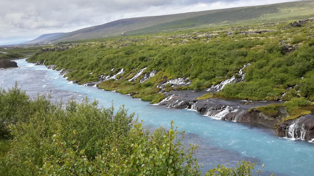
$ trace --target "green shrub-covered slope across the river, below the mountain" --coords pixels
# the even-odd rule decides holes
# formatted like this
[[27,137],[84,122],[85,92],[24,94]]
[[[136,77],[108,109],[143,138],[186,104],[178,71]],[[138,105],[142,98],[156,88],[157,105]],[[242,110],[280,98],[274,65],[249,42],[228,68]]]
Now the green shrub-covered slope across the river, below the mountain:
[[[299,96],[313,100],[314,23],[309,21],[302,27],[288,24],[188,29],[82,41],[64,51],[38,52],[28,61],[45,61],[45,65],[56,65],[57,70],[71,68],[66,76],[68,80],[78,80],[79,84],[97,81],[100,75],[115,75],[123,68],[125,72],[118,80],[103,81],[99,88],[123,94],[133,92],[136,98],[158,93],[155,88],[158,84],[174,78],[188,77],[192,84],[168,87],[165,91],[205,89],[232,77],[243,65],[251,63],[243,70],[244,82],[226,85],[218,96],[277,100],[293,87],[295,91],[290,90],[283,97],[285,100]],[[254,32],[265,28],[266,32]],[[144,83],[139,82],[141,77],[128,81],[145,67],[143,73],[152,70],[158,73]]]

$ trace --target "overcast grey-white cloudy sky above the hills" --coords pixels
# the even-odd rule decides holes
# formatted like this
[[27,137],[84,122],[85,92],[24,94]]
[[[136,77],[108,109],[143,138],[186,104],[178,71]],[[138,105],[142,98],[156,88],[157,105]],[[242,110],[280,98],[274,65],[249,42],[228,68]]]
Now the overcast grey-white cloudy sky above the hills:
[[0,44],[71,32],[122,18],[293,0],[0,0]]

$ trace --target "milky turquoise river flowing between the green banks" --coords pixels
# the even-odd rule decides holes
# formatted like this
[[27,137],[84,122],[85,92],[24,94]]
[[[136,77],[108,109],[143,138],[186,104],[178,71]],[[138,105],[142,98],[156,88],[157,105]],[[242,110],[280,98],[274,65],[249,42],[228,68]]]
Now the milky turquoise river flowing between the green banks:
[[139,99],[116,92],[103,91],[97,87],[84,87],[62,78],[58,71],[45,66],[34,66],[25,59],[14,60],[19,68],[0,70],[0,87],[10,88],[18,82],[31,97],[48,94],[63,101],[72,96],[90,100],[97,99],[104,107],[125,105],[129,112],[136,112],[145,125],[157,128],[169,127],[171,120],[179,130],[186,129],[187,143],[200,146],[197,158],[204,164],[203,170],[212,164],[235,164],[238,160],[250,160],[265,164],[263,175],[313,175],[314,144],[307,141],[279,138],[273,130],[248,124],[215,120],[195,111],[177,110],[151,105]]

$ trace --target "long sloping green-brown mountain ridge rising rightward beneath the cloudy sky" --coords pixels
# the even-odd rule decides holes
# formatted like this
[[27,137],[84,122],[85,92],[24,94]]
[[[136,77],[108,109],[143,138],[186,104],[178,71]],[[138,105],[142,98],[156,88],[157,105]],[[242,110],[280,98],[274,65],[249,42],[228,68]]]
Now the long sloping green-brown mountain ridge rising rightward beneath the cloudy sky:
[[[195,27],[244,25],[314,17],[314,1],[227,8],[173,15],[120,19],[69,33],[45,34],[30,42],[74,41],[116,35],[135,35]],[[47,35],[51,35],[47,37]],[[44,38],[44,39],[43,39]],[[40,39],[42,39],[40,41]]]

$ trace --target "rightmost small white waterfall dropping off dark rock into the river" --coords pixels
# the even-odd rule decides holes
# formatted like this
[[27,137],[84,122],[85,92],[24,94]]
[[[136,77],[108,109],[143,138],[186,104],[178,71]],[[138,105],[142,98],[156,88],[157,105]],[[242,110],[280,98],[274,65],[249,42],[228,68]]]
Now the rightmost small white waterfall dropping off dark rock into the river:
[[306,135],[306,129],[305,124],[303,123],[301,126],[298,123],[300,119],[297,119],[293,121],[293,124],[289,126],[288,129],[286,129],[286,137],[291,139],[305,139]]

